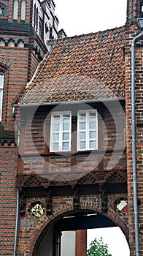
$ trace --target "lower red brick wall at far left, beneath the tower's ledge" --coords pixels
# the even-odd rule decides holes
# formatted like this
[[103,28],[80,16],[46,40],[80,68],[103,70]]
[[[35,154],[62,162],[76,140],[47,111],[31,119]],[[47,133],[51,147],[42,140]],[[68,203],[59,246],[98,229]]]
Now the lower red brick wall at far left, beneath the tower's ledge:
[[0,148],[0,255],[13,255],[15,241],[17,149]]

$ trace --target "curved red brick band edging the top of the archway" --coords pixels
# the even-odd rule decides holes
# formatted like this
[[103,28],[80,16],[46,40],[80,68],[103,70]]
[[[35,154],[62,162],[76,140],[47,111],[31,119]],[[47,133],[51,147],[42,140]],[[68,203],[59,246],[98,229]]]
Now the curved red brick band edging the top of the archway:
[[[28,255],[33,255],[36,256],[36,251],[38,249],[39,243],[42,240],[42,238],[45,236],[46,230],[48,227],[53,225],[55,222],[58,222],[59,219],[62,217],[65,217],[67,214],[75,214],[75,212],[80,212],[80,211],[93,211],[94,213],[96,212],[97,214],[101,214],[101,211],[98,211],[99,209],[97,208],[96,203],[91,203],[90,206],[85,206],[82,204],[80,208],[75,211],[71,207],[60,207],[57,209],[56,213],[53,216],[45,217],[45,219],[42,219],[41,222],[39,222],[39,225],[35,227],[35,230],[32,233],[31,236],[31,243],[28,244],[26,251],[28,252]],[[121,228],[123,231],[123,234],[125,235],[127,241],[128,241],[128,227],[127,223],[125,220],[120,217],[113,209],[110,209],[107,214],[102,214],[109,219],[111,219],[115,224],[117,224],[118,227]]]

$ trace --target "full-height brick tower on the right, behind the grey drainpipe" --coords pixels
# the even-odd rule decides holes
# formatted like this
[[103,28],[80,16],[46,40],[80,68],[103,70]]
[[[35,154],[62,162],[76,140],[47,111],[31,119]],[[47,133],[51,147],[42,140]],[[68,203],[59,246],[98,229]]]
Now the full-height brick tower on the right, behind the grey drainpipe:
[[[132,136],[131,136],[131,42],[138,34],[141,33],[139,27],[136,23],[136,18],[143,17],[143,1],[138,0],[128,0],[127,5],[127,23],[126,23],[126,33],[125,33],[125,109],[126,109],[126,147],[127,147],[127,174],[128,174],[128,229],[129,229],[129,246],[131,249],[131,256],[133,255],[143,255],[142,247],[142,149],[143,149],[143,119],[142,119],[142,39],[136,39],[134,50],[135,50],[135,144],[136,144],[136,196],[134,195],[133,186],[133,153],[132,153]],[[136,199],[138,209],[135,207],[134,211],[134,198]],[[134,212],[138,214],[137,218],[137,230],[135,232],[135,216]],[[138,230],[139,229],[139,230]],[[136,243],[139,244],[138,249],[135,249],[135,233],[138,236]],[[138,243],[139,242],[139,243]],[[136,252],[135,252],[136,251]],[[140,253],[140,254],[139,254]]]

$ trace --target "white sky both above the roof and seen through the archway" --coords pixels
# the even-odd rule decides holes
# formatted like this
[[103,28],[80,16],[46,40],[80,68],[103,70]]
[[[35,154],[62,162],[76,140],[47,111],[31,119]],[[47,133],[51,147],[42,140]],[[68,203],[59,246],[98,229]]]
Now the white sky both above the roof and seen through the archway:
[[[95,33],[125,25],[127,0],[54,0],[58,30],[68,37]],[[88,230],[88,244],[103,237],[112,256],[129,256],[128,244],[119,227]]]

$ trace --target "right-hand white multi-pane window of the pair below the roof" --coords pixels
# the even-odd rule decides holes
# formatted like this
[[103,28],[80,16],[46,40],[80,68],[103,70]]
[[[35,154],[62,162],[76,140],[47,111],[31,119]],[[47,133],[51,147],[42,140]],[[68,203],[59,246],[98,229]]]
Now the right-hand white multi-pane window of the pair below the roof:
[[[96,127],[90,128],[90,113],[96,114]],[[85,114],[85,129],[80,129],[80,114]],[[81,139],[80,132],[85,132],[85,138]],[[90,141],[94,141],[90,138],[90,132],[96,132],[95,142],[96,146],[90,148]],[[85,148],[80,147],[80,142],[85,142]],[[77,112],[77,151],[87,151],[98,149],[98,117],[97,110],[79,110]]]

